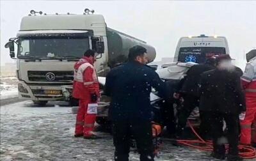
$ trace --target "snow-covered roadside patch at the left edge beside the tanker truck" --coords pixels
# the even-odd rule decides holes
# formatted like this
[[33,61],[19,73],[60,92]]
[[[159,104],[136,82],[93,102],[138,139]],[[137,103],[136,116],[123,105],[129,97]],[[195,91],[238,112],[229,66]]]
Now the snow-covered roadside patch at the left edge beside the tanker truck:
[[0,78],[0,99],[12,98],[18,96],[17,78],[1,77]]

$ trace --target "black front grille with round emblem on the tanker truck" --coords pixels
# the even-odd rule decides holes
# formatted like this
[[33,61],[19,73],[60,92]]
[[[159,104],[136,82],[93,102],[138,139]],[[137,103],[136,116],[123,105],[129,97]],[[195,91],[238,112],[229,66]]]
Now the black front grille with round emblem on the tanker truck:
[[73,71],[28,71],[29,81],[71,82],[73,79]]

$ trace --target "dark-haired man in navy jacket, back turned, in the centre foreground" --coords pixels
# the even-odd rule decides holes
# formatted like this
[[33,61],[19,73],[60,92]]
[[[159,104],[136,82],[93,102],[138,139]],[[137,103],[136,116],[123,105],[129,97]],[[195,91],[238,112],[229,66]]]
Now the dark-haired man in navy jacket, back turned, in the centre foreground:
[[106,76],[104,93],[111,96],[109,116],[113,123],[115,160],[129,160],[131,137],[135,139],[140,160],[154,160],[152,144],[152,88],[166,95],[166,84],[145,65],[147,50],[129,49],[129,61],[113,68]]

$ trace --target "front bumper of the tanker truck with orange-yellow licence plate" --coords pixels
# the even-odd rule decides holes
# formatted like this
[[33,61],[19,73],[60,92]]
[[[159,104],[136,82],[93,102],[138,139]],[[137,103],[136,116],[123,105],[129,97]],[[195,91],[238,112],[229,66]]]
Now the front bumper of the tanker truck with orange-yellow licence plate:
[[40,86],[28,85],[24,81],[19,81],[19,98],[27,100],[64,100],[63,86]]

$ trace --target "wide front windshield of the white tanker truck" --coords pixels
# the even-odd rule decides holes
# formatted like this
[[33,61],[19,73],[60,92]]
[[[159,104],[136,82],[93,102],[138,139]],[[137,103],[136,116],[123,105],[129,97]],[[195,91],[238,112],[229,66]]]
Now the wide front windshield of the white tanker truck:
[[20,38],[19,58],[77,59],[89,49],[88,38]]

